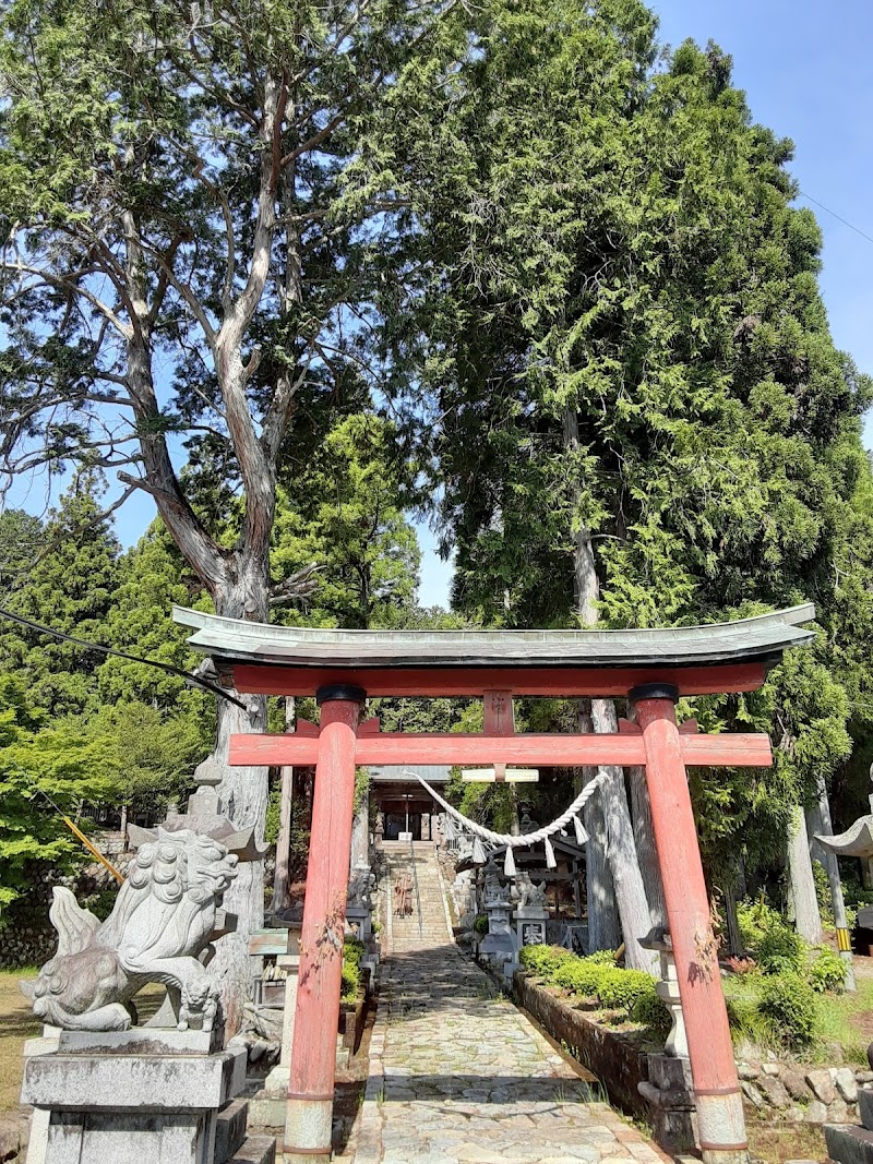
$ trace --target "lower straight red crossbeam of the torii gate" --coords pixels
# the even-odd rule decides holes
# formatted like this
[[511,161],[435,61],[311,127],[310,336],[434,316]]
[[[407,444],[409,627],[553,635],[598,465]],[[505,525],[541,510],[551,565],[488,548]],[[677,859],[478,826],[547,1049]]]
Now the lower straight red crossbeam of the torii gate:
[[[311,725],[307,725],[311,728]],[[379,732],[362,725],[355,764],[404,765],[551,765],[560,767],[620,767],[645,765],[643,736],[611,734],[462,734],[441,732]],[[768,736],[682,736],[682,761],[688,767],[766,768],[773,764]],[[311,767],[318,761],[317,734],[232,736],[232,765]]]

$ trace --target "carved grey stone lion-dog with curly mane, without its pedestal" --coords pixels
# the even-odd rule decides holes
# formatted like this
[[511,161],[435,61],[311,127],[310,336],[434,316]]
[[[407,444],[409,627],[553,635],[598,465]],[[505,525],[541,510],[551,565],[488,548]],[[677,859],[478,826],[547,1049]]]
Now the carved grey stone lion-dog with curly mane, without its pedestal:
[[58,950],[34,986],[34,1013],[65,1030],[127,1030],[134,995],[163,982],[178,1028],[211,1030],[219,988],[198,959],[236,860],[203,833],[158,828],[157,839],[140,846],[105,922],[56,887],[49,916]]

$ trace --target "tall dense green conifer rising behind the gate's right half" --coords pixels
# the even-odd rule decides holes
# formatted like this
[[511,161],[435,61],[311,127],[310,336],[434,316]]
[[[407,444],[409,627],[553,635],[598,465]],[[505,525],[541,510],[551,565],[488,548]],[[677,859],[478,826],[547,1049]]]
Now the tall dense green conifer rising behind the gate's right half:
[[495,2],[478,44],[440,87],[468,164],[423,170],[420,249],[384,289],[454,601],[496,625],[658,626],[812,598],[814,651],[700,709],[778,745],[772,773],[695,774],[711,872],[744,845],[772,858],[870,686],[850,644],[871,384],[828,329],[792,143],[752,123],[716,47],[659,56],[637,0]]

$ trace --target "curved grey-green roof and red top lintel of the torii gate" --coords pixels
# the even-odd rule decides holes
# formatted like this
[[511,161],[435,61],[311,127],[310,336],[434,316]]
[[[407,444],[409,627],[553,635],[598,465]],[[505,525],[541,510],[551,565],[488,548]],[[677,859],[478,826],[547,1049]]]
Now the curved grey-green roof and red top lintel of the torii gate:
[[732,623],[623,631],[348,631],[276,626],[182,606],[189,644],[240,691],[312,695],[356,683],[369,695],[625,695],[673,682],[684,695],[754,690],[802,629],[811,603]]

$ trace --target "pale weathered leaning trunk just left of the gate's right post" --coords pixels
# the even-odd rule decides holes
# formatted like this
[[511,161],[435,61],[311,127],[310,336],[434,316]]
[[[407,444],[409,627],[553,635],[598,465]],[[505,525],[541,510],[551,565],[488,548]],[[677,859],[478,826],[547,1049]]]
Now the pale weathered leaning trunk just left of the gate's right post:
[[[577,453],[580,447],[579,417],[573,407],[565,410],[563,438],[566,450]],[[573,489],[575,495],[573,510],[576,512],[580,509],[581,497],[575,485]],[[581,523],[573,531],[573,542],[576,613],[582,626],[595,626],[598,618],[599,580],[590,531]],[[618,731],[616,705],[612,700],[591,700],[591,725],[595,732]],[[627,807],[624,772],[622,768],[611,766],[601,768],[599,772],[605,772],[605,778],[599,793],[595,794],[595,799],[599,799],[603,804],[606,857],[612,873],[618,916],[622,921],[626,950],[625,961],[634,970],[646,970],[656,977],[658,956],[652,950],[644,950],[639,944],[640,938],[644,938],[651,930],[652,918],[633,842],[633,826]]]

